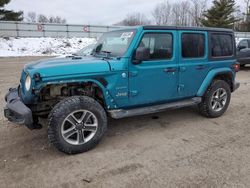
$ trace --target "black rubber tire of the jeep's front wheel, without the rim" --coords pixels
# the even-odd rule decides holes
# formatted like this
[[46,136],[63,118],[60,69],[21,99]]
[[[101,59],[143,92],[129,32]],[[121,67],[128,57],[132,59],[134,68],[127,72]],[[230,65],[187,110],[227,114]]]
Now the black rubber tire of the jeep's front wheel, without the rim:
[[[95,115],[98,126],[93,138],[86,143],[73,145],[64,139],[61,129],[65,124],[65,119],[72,112],[82,109]],[[62,100],[52,109],[48,119],[49,141],[58,150],[67,154],[82,153],[94,148],[107,130],[107,116],[105,110],[97,101],[87,96],[74,96]]]

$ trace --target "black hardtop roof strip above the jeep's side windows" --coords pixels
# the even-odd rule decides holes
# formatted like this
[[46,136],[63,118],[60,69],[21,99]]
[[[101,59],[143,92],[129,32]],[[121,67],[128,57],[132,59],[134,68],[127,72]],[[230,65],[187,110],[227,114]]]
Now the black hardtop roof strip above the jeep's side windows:
[[232,29],[214,28],[214,27],[184,27],[184,26],[165,26],[165,25],[144,25],[144,30],[191,30],[191,31],[216,31],[216,32],[234,32]]

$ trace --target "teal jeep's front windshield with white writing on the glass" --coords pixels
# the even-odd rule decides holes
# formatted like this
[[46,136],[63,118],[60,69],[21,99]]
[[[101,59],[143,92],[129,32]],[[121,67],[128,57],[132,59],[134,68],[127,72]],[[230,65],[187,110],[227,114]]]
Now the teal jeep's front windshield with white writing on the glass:
[[121,57],[127,51],[135,30],[119,30],[104,33],[97,41],[94,55]]

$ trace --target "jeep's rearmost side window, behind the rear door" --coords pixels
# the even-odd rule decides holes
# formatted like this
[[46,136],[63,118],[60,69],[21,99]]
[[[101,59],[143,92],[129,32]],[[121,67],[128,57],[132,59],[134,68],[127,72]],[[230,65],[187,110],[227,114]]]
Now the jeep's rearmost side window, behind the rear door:
[[233,37],[230,34],[211,34],[212,57],[233,56]]

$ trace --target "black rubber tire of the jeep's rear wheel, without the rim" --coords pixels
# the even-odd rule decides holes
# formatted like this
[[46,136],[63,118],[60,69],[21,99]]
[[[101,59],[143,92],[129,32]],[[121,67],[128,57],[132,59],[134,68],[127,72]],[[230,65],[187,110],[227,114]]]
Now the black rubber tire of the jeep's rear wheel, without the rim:
[[[211,101],[212,101],[212,97],[213,97],[214,93],[218,89],[223,89],[226,92],[227,100],[226,100],[226,102],[221,110],[215,111],[212,108]],[[227,110],[228,105],[230,103],[230,99],[231,99],[231,90],[230,90],[229,84],[227,82],[225,82],[224,80],[214,80],[210,84],[210,86],[207,89],[207,91],[205,92],[204,96],[202,97],[202,102],[198,105],[199,111],[203,116],[206,116],[208,118],[220,117]]]

